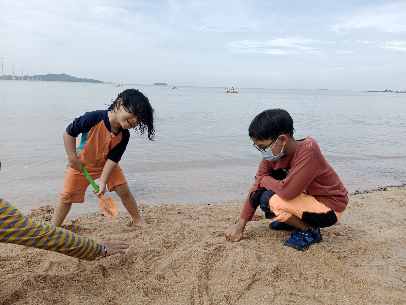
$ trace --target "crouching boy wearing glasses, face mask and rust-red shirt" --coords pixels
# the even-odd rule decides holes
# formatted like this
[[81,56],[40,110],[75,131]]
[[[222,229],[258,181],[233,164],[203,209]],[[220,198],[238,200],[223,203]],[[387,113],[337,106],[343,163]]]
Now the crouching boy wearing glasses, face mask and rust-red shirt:
[[343,214],[348,192],[311,137],[295,140],[293,120],[283,109],[268,109],[248,128],[262,155],[255,183],[240,219],[225,231],[240,241],[258,206],[272,230],[294,230],[284,245],[305,251],[323,240],[320,227],[330,227]]

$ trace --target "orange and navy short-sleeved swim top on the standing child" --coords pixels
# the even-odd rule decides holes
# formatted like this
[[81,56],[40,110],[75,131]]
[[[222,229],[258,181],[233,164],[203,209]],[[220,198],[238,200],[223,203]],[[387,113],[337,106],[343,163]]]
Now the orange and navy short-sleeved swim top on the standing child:
[[108,110],[86,112],[75,118],[66,132],[72,137],[82,134],[76,153],[89,168],[103,168],[107,159],[119,163],[130,139],[127,129],[120,127],[117,133],[111,132]]

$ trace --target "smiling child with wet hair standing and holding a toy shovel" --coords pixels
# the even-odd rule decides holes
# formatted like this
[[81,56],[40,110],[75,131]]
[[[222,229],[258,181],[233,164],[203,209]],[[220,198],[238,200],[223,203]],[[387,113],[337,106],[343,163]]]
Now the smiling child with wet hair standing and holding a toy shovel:
[[[148,98],[136,89],[121,92],[107,110],[86,112],[73,120],[63,133],[63,142],[69,164],[65,182],[55,208],[52,224],[60,227],[71,209],[72,203],[83,203],[89,186],[82,166],[93,179],[99,179],[100,192],[96,196],[114,191],[132,217],[132,224],[146,228],[147,222],[140,217],[137,203],[127,185],[119,161],[130,139],[129,129],[140,136],[155,137],[154,109]],[[76,137],[81,134],[76,146]]]

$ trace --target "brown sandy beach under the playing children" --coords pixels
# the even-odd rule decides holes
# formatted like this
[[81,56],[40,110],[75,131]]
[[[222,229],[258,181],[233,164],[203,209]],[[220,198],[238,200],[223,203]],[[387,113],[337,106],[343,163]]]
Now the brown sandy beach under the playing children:
[[[283,246],[290,233],[268,229],[261,210],[241,242],[227,242],[242,204],[140,205],[147,229],[130,227],[127,213],[67,220],[81,235],[130,244],[94,261],[0,244],[0,304],[406,303],[406,187],[350,196],[305,252]],[[49,222],[52,211],[30,216]]]

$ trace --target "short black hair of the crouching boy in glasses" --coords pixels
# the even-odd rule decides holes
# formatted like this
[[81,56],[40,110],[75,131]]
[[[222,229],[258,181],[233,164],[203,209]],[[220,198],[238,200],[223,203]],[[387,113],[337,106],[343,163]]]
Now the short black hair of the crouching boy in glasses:
[[293,119],[284,109],[268,109],[262,111],[252,120],[248,127],[250,138],[260,141],[276,139],[279,135],[293,137]]

